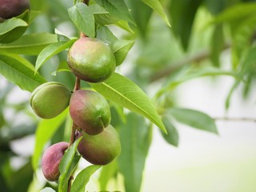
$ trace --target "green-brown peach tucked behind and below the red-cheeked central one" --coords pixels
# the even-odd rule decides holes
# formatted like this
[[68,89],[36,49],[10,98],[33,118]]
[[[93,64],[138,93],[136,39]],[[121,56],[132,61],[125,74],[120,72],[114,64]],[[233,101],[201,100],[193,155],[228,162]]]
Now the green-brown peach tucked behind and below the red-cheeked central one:
[[82,140],[78,144],[78,152],[82,158],[94,165],[106,165],[117,158],[121,152],[118,132],[111,125],[96,135],[78,132],[76,138],[82,135]]

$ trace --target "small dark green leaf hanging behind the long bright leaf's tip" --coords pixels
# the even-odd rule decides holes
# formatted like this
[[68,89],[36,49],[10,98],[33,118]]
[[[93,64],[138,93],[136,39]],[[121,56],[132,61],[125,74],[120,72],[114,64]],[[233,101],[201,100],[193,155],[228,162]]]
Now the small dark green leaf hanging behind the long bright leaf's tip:
[[170,145],[178,146],[178,130],[176,130],[175,126],[170,122],[170,119],[166,116],[162,118],[163,124],[166,126],[167,134],[162,133],[162,137],[168,142]]

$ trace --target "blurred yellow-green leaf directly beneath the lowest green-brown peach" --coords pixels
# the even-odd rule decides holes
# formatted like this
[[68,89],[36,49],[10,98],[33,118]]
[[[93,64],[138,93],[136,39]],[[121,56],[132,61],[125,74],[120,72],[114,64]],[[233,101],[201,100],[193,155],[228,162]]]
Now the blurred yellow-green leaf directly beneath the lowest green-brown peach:
[[101,190],[106,190],[106,186],[110,181],[110,178],[113,178],[114,175],[117,174],[117,172],[118,172],[118,162],[116,160],[102,167],[101,174],[98,178],[98,182],[100,184]]

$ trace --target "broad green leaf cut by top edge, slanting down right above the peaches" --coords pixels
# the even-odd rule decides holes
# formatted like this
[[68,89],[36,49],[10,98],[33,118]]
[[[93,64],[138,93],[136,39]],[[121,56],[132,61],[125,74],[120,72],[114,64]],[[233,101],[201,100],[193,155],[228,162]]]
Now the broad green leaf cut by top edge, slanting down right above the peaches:
[[95,0],[95,2],[110,12],[110,14],[113,14],[116,18],[134,23],[134,19],[131,18],[130,11],[128,10],[124,0]]

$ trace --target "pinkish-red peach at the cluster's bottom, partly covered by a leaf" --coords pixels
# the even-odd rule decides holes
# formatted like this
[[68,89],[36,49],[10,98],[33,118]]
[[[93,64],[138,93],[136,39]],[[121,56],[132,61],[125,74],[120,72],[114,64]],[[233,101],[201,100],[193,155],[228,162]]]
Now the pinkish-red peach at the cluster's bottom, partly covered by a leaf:
[[42,155],[42,173],[48,181],[58,180],[60,174],[58,166],[68,147],[68,142],[58,142],[50,146]]

